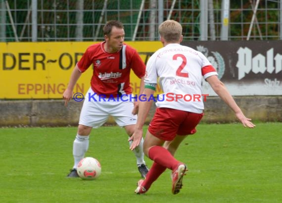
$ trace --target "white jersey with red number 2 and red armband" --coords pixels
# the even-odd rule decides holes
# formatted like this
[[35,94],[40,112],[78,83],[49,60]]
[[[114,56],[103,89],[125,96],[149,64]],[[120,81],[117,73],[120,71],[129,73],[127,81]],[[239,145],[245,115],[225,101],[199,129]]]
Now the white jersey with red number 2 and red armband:
[[201,52],[171,43],[149,58],[144,82],[157,83],[159,77],[164,94],[158,96],[158,107],[202,113],[202,77],[211,75],[217,72]]

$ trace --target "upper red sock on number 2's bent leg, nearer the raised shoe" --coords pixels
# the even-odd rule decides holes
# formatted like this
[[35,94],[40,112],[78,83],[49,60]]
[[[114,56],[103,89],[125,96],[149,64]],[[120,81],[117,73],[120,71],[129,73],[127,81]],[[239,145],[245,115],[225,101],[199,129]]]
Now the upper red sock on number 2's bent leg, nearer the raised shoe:
[[171,153],[162,146],[153,146],[148,152],[149,158],[157,164],[171,170],[178,167],[180,161],[176,160]]

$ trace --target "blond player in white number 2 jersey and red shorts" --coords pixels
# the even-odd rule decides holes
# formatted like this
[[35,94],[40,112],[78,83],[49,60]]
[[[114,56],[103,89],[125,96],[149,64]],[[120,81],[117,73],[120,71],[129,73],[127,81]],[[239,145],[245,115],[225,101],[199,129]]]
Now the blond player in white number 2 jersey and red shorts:
[[[235,112],[244,127],[255,127],[218,79],[215,68],[207,58],[192,48],[180,45],[183,36],[182,26],[178,22],[163,22],[159,26],[159,34],[164,47],[157,50],[148,60],[142,94],[145,95],[144,98],[154,94],[159,77],[164,99],[159,97],[156,102],[157,109],[144,139],[144,153],[154,163],[146,179],[138,181],[135,190],[137,194],[147,192],[165,169],[172,170],[172,193],[180,192],[187,166],[176,160],[174,154],[187,135],[196,133],[195,127],[203,116],[204,98],[200,97],[202,77]],[[134,140],[130,147],[132,150],[142,139],[142,126],[151,104],[152,100],[140,102],[136,129],[129,139]]]

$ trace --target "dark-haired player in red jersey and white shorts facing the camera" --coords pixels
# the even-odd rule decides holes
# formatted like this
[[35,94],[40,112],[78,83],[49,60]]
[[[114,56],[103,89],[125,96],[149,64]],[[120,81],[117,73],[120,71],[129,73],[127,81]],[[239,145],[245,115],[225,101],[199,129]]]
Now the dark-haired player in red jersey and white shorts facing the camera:
[[[84,158],[89,147],[89,135],[92,128],[103,125],[109,115],[124,127],[131,136],[137,121],[138,102],[133,102],[130,86],[130,71],[141,78],[142,91],[145,64],[138,52],[124,43],[124,27],[119,21],[109,21],[103,27],[105,41],[89,46],[81,60],[75,66],[68,87],[63,93],[65,106],[73,96],[74,86],[81,76],[93,65],[91,87],[86,94],[80,114],[77,135],[73,142],[74,166],[67,177],[78,177],[77,166]],[[121,96],[125,98],[122,99]],[[106,135],[114,136],[114,135]],[[145,177],[148,168],[144,161],[142,142],[134,150],[141,177]],[[131,144],[132,142],[130,142]]]

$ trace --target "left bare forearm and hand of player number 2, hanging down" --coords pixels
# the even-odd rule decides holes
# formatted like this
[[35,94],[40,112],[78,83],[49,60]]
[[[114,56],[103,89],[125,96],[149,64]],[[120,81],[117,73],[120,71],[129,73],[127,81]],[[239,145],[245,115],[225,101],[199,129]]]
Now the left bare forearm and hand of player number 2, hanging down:
[[[150,97],[150,95],[154,94],[154,90],[145,88],[142,95],[145,95],[147,99]],[[152,106],[152,100],[146,101],[146,102],[140,102],[139,103],[139,112],[138,112],[138,118],[137,123],[135,125],[135,131],[134,134],[128,139],[128,141],[133,140],[133,143],[130,146],[131,150],[134,150],[139,144],[143,136],[143,125],[145,123],[146,117],[150,111],[150,108]]]

